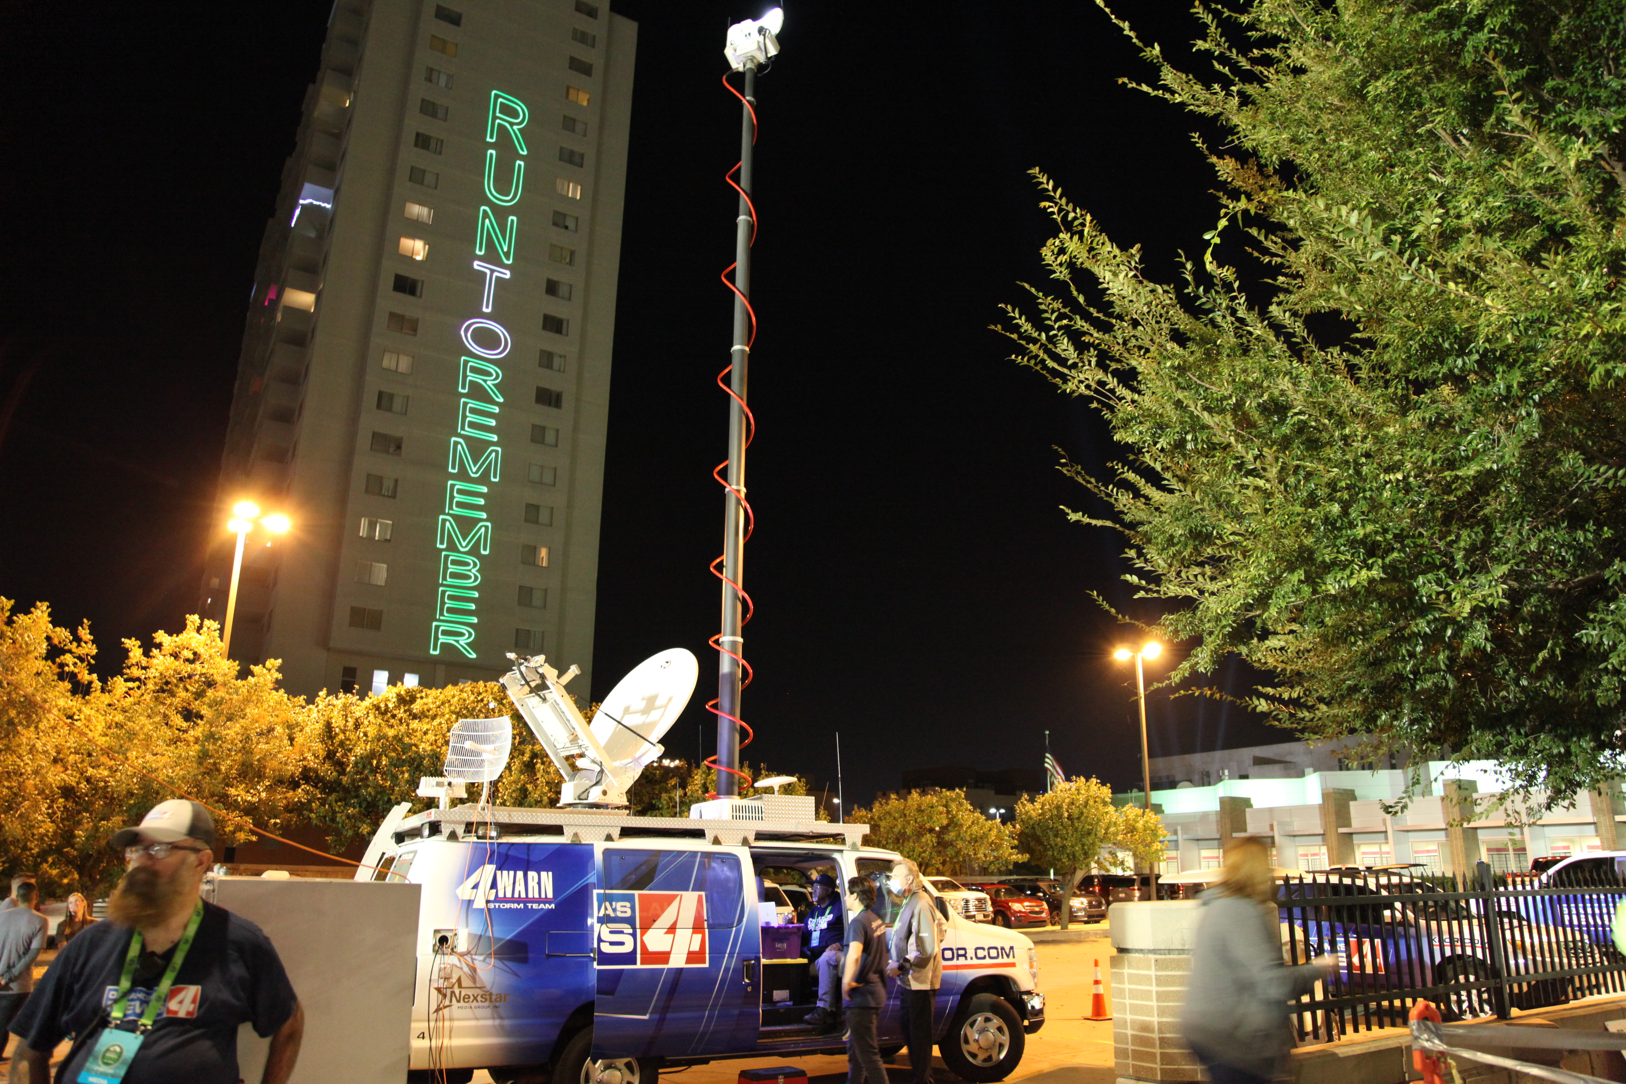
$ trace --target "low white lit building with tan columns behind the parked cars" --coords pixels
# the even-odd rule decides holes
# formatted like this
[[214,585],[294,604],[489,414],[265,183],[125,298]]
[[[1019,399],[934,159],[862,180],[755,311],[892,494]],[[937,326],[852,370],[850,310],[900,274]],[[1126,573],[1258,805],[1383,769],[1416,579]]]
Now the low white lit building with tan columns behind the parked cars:
[[[1257,749],[1291,759],[1278,756],[1281,746],[1228,752],[1250,759]],[[1416,796],[1405,811],[1384,813],[1385,803],[1393,808],[1402,798],[1411,777],[1419,783]],[[1273,863],[1289,869],[1421,863],[1441,873],[1470,873],[1478,861],[1519,871],[1528,869],[1532,858],[1616,850],[1621,843],[1626,806],[1618,787],[1579,795],[1546,813],[1538,813],[1537,795],[1528,816],[1519,816],[1522,806],[1496,809],[1502,790],[1494,762],[1426,761],[1410,770],[1311,767],[1296,777],[1153,787],[1151,801],[1167,829],[1164,874],[1215,869],[1226,843],[1242,835],[1263,840]]]

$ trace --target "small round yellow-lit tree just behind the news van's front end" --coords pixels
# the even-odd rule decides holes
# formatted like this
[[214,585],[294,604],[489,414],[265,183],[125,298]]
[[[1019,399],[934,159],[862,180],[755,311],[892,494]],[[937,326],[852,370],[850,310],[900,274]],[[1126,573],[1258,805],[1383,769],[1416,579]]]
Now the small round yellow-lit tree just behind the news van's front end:
[[870,826],[865,843],[898,852],[928,876],[1003,873],[1024,858],[1015,829],[982,816],[964,790],[881,795],[849,819]]

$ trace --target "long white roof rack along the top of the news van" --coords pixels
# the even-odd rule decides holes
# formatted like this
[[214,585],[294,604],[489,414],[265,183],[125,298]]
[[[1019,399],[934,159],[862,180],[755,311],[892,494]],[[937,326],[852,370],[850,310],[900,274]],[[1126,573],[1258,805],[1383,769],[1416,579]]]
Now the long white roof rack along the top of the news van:
[[504,835],[559,835],[566,843],[602,843],[636,839],[694,839],[722,847],[758,842],[841,843],[857,850],[868,824],[831,821],[707,821],[699,817],[639,817],[611,809],[553,809],[481,806],[463,803],[450,809],[424,809],[395,827],[395,845],[413,839],[501,839]]

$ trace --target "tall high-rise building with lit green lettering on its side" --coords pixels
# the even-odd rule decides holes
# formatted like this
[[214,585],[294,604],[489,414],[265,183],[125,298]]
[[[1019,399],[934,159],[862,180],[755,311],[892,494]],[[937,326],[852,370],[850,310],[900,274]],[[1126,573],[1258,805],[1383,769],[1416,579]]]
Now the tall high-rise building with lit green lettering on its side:
[[302,694],[515,650],[590,683],[636,42],[602,0],[335,5],[221,466],[223,509],[293,522],[249,535],[233,657]]

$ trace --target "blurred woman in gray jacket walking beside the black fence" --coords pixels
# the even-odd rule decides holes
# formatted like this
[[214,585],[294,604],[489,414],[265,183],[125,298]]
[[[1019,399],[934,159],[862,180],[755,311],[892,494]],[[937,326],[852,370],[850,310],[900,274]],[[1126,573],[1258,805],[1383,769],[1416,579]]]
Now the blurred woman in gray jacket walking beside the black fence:
[[1276,878],[1257,839],[1226,848],[1224,879],[1202,900],[1180,1034],[1215,1084],[1263,1084],[1293,1048],[1288,1001],[1314,990],[1338,957],[1283,964]]

